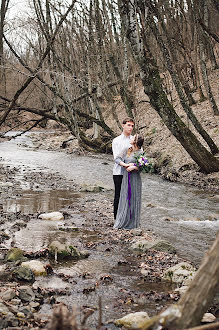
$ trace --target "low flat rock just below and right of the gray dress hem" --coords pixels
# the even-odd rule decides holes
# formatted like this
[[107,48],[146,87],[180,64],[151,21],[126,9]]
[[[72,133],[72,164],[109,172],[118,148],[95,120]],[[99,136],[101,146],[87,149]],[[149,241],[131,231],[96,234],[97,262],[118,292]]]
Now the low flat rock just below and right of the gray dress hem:
[[136,241],[131,246],[132,250],[146,252],[148,250],[176,253],[176,249],[167,241],[148,241],[145,238]]

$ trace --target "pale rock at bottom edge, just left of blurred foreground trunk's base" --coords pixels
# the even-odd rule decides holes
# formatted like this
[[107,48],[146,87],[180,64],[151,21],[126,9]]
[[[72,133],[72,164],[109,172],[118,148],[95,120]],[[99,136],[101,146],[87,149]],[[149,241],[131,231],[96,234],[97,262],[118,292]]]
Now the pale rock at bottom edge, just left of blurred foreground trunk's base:
[[149,320],[148,313],[146,312],[137,312],[128,314],[121,319],[115,320],[114,324],[116,326],[124,326],[128,329],[141,329],[144,322]]

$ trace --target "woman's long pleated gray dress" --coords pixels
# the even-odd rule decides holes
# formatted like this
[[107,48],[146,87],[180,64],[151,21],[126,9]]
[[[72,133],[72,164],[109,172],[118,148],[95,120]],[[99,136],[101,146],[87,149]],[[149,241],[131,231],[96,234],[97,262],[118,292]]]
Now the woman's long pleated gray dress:
[[[124,162],[135,163],[134,155],[136,155],[136,153],[132,153],[129,157],[126,156]],[[128,198],[128,173],[130,173],[131,198]],[[132,229],[139,227],[141,213],[141,192],[142,182],[140,171],[127,172],[124,170],[119,206],[114,228]]]

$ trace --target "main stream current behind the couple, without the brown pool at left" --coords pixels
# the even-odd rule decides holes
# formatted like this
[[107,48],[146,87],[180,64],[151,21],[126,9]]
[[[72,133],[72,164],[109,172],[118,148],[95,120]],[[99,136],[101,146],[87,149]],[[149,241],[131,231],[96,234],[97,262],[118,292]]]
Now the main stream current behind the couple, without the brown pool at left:
[[[37,141],[41,139],[45,145],[47,137],[44,134],[35,132],[34,135]],[[54,141],[53,149],[57,148],[58,151],[41,150],[38,145],[35,146],[33,138],[28,136],[1,143],[1,163],[21,167],[23,173],[35,172],[36,181],[33,187],[40,182],[41,173],[44,173],[45,177],[47,174],[48,177],[57,174],[69,182],[68,190],[71,190],[71,186],[76,191],[92,190],[93,186],[97,191],[101,190],[102,194],[106,193],[106,198],[112,203],[112,156],[84,155],[77,146],[74,152],[69,154],[60,151],[60,140],[57,137],[56,140],[59,142]],[[25,178],[21,180],[28,190],[30,187],[26,181]],[[174,244],[180,256],[198,265],[204,252],[214,241],[219,227],[218,193],[169,182],[157,175],[142,175],[142,181],[142,228],[167,239]],[[59,180],[53,184],[55,194],[61,184]],[[36,198],[40,198],[40,195]],[[20,207],[19,199],[17,207]]]

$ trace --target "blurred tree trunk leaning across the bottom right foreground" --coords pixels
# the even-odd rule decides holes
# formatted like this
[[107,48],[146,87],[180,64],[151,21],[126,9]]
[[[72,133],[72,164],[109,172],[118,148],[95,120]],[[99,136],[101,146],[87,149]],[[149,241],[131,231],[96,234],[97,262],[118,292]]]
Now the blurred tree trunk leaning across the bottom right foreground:
[[[219,233],[206,253],[192,283],[176,305],[146,321],[142,330],[182,330],[199,325],[219,285]],[[201,328],[200,328],[201,329]],[[215,328],[216,329],[216,328]],[[192,329],[191,329],[192,330]]]

